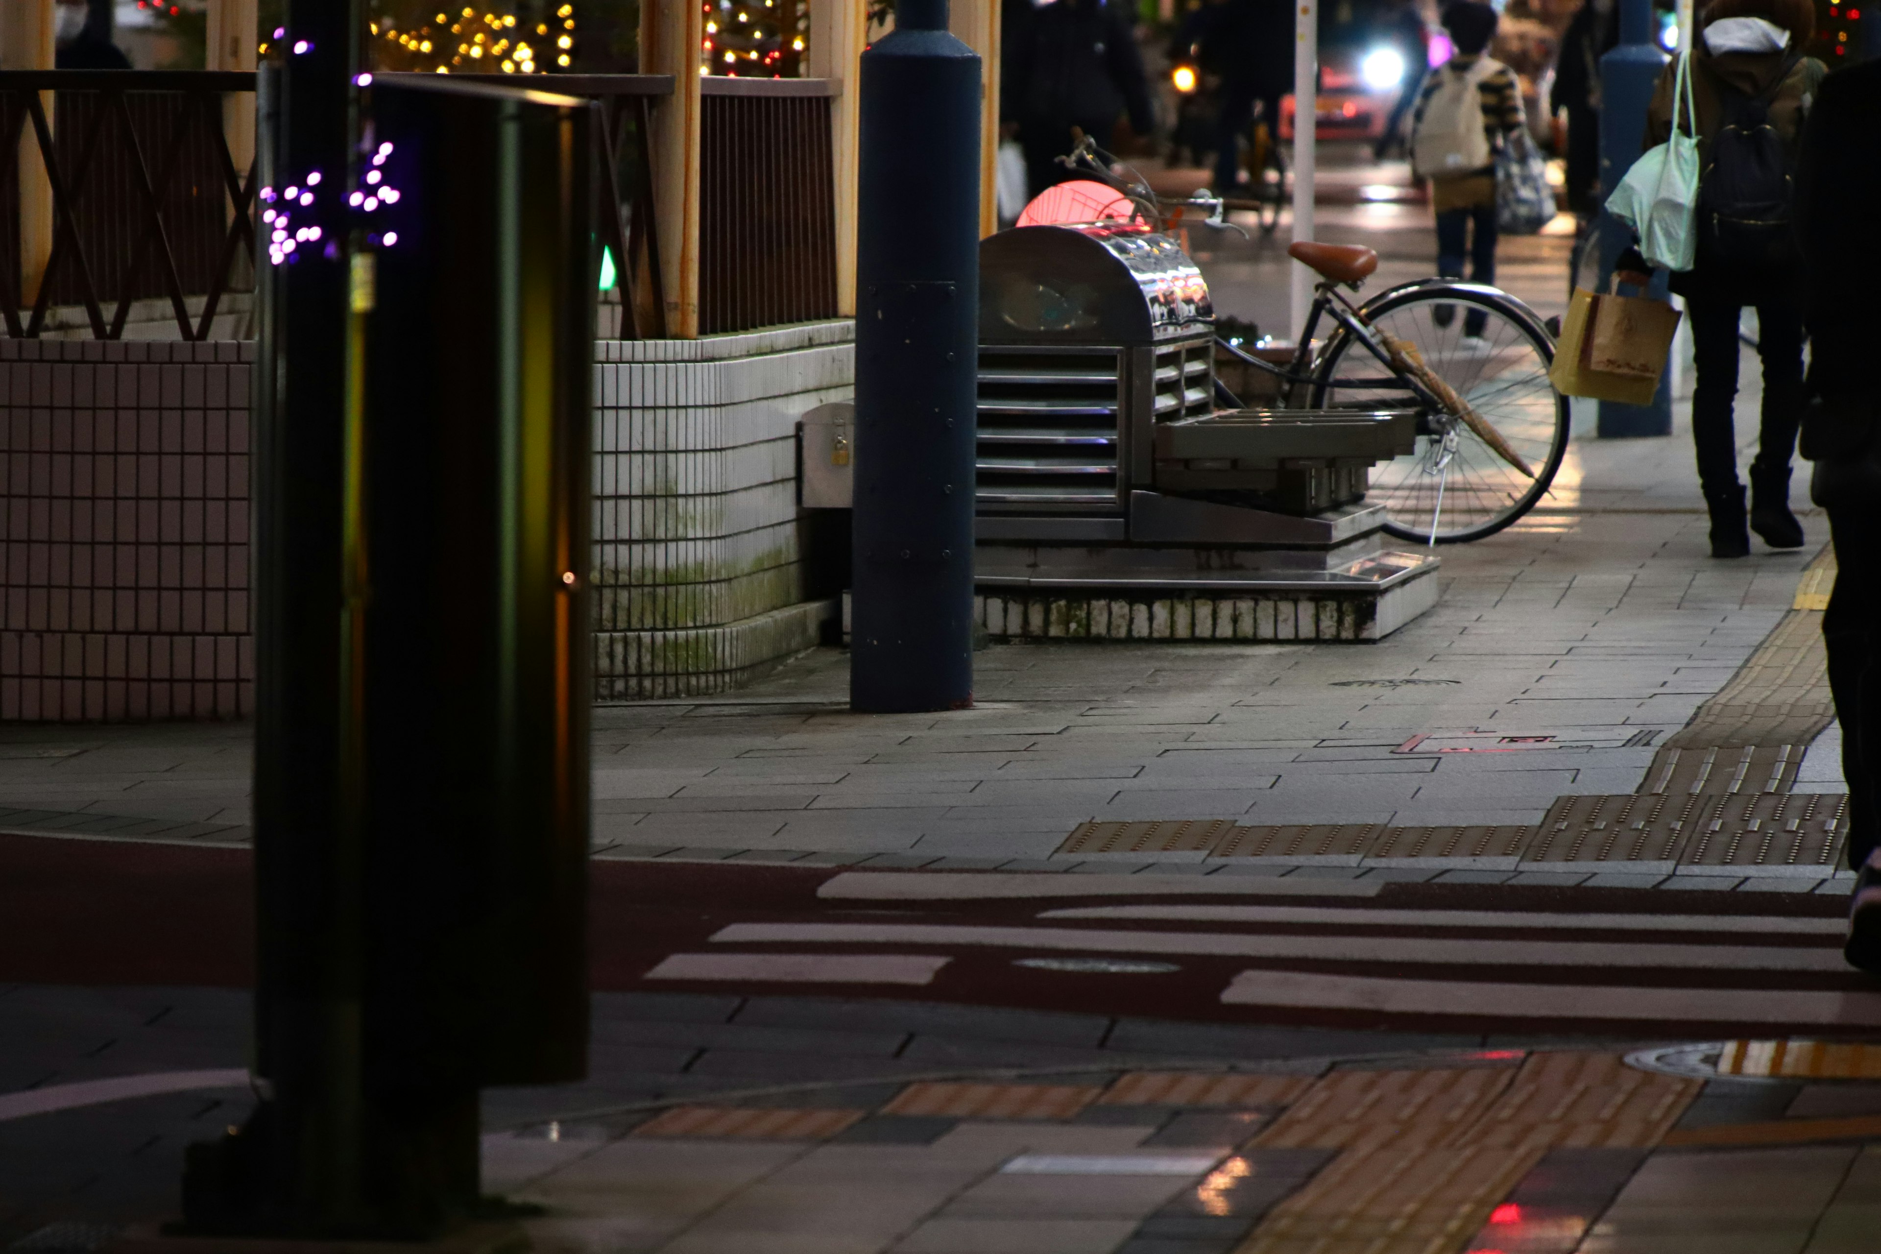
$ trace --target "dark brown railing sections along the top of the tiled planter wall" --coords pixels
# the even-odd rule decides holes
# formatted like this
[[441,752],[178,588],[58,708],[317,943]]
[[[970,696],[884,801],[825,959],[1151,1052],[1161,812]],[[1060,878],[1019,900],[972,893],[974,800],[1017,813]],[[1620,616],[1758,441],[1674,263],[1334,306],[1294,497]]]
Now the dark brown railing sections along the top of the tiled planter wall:
[[[401,75],[382,75],[397,79]],[[465,75],[472,77],[472,75]],[[514,75],[474,81],[517,85]],[[545,75],[530,86],[600,103],[611,190],[600,243],[621,274],[621,338],[666,325],[653,207],[651,117],[670,75]],[[837,316],[835,186],[826,79],[702,81],[700,333]],[[179,338],[209,335],[229,291],[254,284],[256,167],[237,169],[222,130],[229,92],[254,73],[45,70],[0,73],[0,320],[38,338],[55,306],[79,306],[100,340],[132,303],[167,299]],[[51,117],[41,92],[51,92]],[[34,143],[53,197],[53,246],[32,301],[21,282],[21,162]],[[190,303],[201,299],[198,312]]]

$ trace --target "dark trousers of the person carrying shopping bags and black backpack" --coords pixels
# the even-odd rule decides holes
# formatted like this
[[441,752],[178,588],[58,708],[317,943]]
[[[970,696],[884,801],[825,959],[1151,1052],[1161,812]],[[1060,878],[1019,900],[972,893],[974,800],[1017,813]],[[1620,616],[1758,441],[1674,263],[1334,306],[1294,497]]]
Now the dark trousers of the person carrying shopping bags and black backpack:
[[[1691,350],[1697,380],[1691,389],[1691,440],[1699,451],[1699,483],[1706,493],[1738,483],[1738,314],[1742,305],[1691,297]],[[1794,299],[1757,301],[1757,352],[1764,368],[1762,425],[1757,464],[1789,466],[1802,421],[1802,312]],[[1840,545],[1838,545],[1840,553]]]

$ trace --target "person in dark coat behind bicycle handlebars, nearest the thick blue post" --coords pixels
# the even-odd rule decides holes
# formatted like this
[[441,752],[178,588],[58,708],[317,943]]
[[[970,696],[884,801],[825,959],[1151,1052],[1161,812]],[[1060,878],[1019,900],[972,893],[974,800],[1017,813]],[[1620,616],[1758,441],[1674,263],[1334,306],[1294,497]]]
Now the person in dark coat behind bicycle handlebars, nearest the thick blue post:
[[1016,122],[1031,194],[1074,175],[1057,164],[1076,145],[1072,128],[1110,147],[1117,117],[1155,128],[1144,58],[1125,0],[1046,0],[1010,26],[1001,88],[1003,120]]

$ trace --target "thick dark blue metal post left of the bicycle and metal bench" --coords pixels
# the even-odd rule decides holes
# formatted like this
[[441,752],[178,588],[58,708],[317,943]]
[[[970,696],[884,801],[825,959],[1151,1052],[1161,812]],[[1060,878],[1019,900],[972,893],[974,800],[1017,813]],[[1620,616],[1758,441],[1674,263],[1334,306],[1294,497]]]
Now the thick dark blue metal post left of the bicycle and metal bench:
[[861,55],[850,705],[972,703],[980,58],[946,0]]

